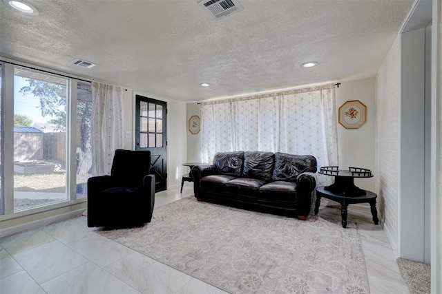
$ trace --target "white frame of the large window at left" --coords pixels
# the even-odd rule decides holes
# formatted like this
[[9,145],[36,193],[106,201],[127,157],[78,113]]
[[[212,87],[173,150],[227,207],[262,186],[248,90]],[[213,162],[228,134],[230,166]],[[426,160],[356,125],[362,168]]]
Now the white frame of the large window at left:
[[[44,67],[36,67],[27,63],[0,59],[1,65],[1,201],[0,221],[30,216],[35,213],[70,207],[87,201],[87,197],[77,198],[76,182],[76,134],[77,134],[77,83],[91,83],[81,77],[71,76],[62,72],[50,71]],[[27,71],[35,71],[48,76],[63,77],[68,80],[68,104],[66,105],[66,196],[67,200],[39,207],[32,207],[14,212],[14,182],[13,182],[13,121],[14,121],[14,76],[15,68],[23,67]],[[8,144],[5,144],[8,142]],[[9,143],[10,142],[10,143]]]

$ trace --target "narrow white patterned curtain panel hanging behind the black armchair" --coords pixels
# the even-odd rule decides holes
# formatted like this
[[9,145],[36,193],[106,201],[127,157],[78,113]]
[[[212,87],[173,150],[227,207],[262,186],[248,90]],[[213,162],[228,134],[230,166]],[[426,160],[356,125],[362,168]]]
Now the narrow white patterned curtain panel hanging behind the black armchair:
[[113,155],[123,147],[121,87],[92,83],[93,176],[111,174]]

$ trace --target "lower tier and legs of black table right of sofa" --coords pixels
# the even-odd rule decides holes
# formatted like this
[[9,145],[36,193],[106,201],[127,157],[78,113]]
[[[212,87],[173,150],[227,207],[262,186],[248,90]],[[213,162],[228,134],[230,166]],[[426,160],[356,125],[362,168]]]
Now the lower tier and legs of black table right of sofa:
[[315,215],[318,214],[320,198],[327,198],[340,203],[340,215],[342,218],[343,228],[347,227],[347,207],[349,204],[356,203],[369,203],[370,210],[372,211],[372,217],[374,224],[379,223],[378,211],[376,210],[376,198],[378,197],[375,193],[370,191],[365,191],[363,196],[345,196],[343,193],[334,193],[325,187],[316,188],[316,203],[315,203]]

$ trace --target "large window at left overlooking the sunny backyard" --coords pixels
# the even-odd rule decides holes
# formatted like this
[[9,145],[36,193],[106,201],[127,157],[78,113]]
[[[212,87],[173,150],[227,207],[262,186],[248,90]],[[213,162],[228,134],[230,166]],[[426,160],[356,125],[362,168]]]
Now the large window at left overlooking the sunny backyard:
[[10,63],[3,67],[1,212],[84,198],[92,166],[90,83]]

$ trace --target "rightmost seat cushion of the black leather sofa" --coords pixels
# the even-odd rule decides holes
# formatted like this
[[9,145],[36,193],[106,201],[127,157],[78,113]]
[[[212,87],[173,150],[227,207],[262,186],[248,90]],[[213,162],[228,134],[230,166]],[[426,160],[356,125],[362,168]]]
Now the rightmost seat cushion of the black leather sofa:
[[262,200],[296,201],[296,183],[278,180],[259,188],[258,197]]

